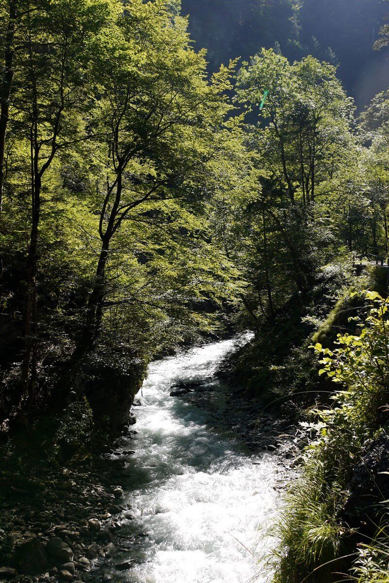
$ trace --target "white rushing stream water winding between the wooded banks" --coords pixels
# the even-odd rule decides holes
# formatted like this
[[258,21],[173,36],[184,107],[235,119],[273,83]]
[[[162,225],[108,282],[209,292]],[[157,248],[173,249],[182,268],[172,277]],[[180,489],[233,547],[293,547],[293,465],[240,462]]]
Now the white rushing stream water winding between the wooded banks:
[[[131,542],[121,559],[136,564],[121,573],[131,583],[249,583],[268,581],[260,557],[271,543],[277,511],[277,457],[253,455],[232,431],[218,426],[227,406],[215,370],[237,340],[196,347],[152,363],[136,408],[137,435],[123,441]],[[241,340],[242,342],[242,340]],[[205,381],[211,410],[171,385]],[[125,515],[123,515],[124,517]],[[135,548],[135,550],[134,550]]]

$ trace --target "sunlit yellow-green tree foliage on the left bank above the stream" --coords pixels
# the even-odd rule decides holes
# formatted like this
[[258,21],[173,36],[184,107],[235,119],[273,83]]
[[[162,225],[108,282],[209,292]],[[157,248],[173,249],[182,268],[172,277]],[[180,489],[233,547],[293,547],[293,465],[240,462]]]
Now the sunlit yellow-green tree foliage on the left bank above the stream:
[[241,274],[208,215],[243,152],[228,97],[235,64],[207,79],[176,2],[22,2],[13,16],[9,6],[5,417],[20,400],[48,403],[58,367],[96,343],[143,370],[220,331]]

